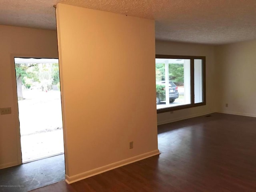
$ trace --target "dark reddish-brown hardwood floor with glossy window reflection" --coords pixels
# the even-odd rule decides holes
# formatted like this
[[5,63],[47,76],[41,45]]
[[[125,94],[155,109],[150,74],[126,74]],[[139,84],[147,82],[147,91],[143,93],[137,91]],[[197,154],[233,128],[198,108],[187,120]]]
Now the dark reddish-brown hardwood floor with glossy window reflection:
[[158,132],[159,156],[33,192],[256,192],[256,118],[214,113]]

